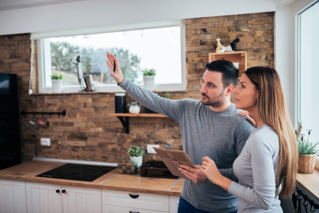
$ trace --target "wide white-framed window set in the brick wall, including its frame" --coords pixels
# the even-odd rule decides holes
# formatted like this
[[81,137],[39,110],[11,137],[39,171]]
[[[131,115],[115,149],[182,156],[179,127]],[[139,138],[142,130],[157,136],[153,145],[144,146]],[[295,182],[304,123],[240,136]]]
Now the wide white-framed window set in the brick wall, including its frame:
[[[39,93],[51,93],[52,74],[63,75],[63,92],[81,90],[76,53],[97,92],[123,91],[106,64],[116,54],[126,78],[143,86],[142,70],[154,68],[155,91],[186,90],[185,32],[182,20],[32,33],[37,40]],[[84,81],[82,84],[85,85]]]

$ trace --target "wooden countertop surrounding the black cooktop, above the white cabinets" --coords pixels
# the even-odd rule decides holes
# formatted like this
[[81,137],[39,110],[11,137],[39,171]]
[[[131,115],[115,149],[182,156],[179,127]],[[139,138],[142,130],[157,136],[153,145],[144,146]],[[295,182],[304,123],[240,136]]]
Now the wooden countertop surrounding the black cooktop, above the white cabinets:
[[[118,174],[116,169],[102,175],[92,182],[36,177],[41,173],[47,172],[64,164],[66,163],[32,160],[0,170],[0,178],[66,186],[142,192],[156,195],[181,196],[181,179],[141,177],[138,174]],[[175,186],[175,184],[177,185]]]

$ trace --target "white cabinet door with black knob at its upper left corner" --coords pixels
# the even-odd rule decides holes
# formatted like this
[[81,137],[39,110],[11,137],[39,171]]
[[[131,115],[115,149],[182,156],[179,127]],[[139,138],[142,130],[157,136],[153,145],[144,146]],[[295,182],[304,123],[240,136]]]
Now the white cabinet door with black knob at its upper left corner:
[[101,189],[62,186],[62,192],[63,213],[102,212]]

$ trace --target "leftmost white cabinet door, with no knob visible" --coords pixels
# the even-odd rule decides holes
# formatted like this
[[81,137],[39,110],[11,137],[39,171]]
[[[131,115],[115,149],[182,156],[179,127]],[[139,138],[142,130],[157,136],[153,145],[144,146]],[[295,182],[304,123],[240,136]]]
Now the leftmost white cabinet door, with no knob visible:
[[0,212],[26,213],[26,183],[0,179]]

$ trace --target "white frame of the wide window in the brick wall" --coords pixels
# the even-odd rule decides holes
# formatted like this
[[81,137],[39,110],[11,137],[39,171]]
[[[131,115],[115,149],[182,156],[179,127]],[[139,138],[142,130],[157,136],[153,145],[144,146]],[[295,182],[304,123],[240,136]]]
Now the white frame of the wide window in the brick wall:
[[[162,22],[148,22],[139,23],[131,25],[119,25],[119,26],[107,26],[107,27],[92,27],[92,28],[81,28],[81,29],[70,29],[70,30],[60,30],[60,31],[49,31],[49,32],[39,32],[31,33],[31,38],[37,40],[37,64],[38,64],[38,90],[39,93],[52,93],[52,87],[45,87],[45,74],[44,70],[51,69],[51,57],[46,57],[46,55],[51,55],[49,52],[44,52],[45,45],[49,45],[46,38],[51,37],[61,37],[61,36],[72,36],[72,35],[85,35],[85,34],[95,34],[95,33],[112,33],[119,31],[129,31],[129,30],[142,30],[151,28],[161,28],[161,27],[181,27],[181,83],[174,84],[155,84],[153,91],[186,91],[186,39],[185,39],[185,25],[183,20],[171,20]],[[45,57],[45,58],[44,58]],[[138,84],[144,87],[143,84]],[[94,85],[95,92],[124,92],[116,84],[103,84]],[[75,93],[81,90],[80,85],[63,86],[63,93]]]

